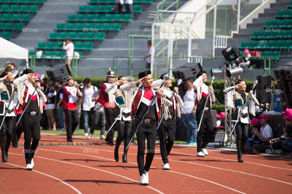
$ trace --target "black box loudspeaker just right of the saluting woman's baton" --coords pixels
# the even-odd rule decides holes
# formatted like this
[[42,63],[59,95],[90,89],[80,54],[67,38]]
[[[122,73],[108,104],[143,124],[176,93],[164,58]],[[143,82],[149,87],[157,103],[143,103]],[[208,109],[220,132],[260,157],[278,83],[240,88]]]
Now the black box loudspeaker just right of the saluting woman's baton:
[[271,103],[271,75],[258,75],[259,84],[256,86],[256,99],[259,103]]

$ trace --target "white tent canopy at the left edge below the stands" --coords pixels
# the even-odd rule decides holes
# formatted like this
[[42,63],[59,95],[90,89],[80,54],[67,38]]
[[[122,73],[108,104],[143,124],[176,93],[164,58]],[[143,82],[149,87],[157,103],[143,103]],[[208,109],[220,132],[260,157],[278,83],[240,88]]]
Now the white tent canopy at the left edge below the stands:
[[0,37],[0,59],[24,59],[26,68],[28,68],[28,49],[18,46],[4,38]]

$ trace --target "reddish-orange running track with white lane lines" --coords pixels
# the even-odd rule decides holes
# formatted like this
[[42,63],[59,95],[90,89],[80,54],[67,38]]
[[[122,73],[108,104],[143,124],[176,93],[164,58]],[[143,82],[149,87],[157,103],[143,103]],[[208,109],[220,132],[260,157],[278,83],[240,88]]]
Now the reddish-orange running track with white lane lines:
[[[75,136],[76,137],[76,136]],[[22,143],[20,139],[19,143]],[[74,143],[105,143],[77,137]],[[41,135],[40,144],[67,143],[64,135]],[[128,163],[116,162],[114,146],[38,146],[33,171],[25,170],[23,146],[9,149],[8,163],[0,162],[0,193],[287,193],[292,190],[292,159],[243,155],[173,146],[170,171],[162,169],[159,145],[149,171],[149,186],[140,185],[137,145],[130,145]],[[120,146],[120,159],[123,145]],[[92,173],[90,173],[92,172]],[[289,192],[288,192],[289,193]]]

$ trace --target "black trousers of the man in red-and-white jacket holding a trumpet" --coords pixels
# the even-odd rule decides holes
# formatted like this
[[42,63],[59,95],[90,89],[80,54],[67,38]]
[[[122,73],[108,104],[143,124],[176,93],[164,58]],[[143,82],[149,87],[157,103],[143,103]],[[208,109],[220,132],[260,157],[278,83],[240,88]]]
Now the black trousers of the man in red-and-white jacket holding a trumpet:
[[72,141],[72,135],[78,126],[78,112],[77,110],[65,109],[64,113],[67,141]]

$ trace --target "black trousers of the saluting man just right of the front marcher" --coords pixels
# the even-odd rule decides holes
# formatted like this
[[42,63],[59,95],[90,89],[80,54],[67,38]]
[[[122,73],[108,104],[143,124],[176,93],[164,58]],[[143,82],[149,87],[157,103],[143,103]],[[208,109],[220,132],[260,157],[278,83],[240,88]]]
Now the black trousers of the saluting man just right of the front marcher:
[[175,117],[173,117],[173,119],[168,119],[168,120],[162,119],[162,122],[158,128],[158,135],[159,135],[160,154],[162,157],[162,161],[165,164],[169,163],[167,156],[169,155],[173,142],[175,140],[175,134],[176,134]]

